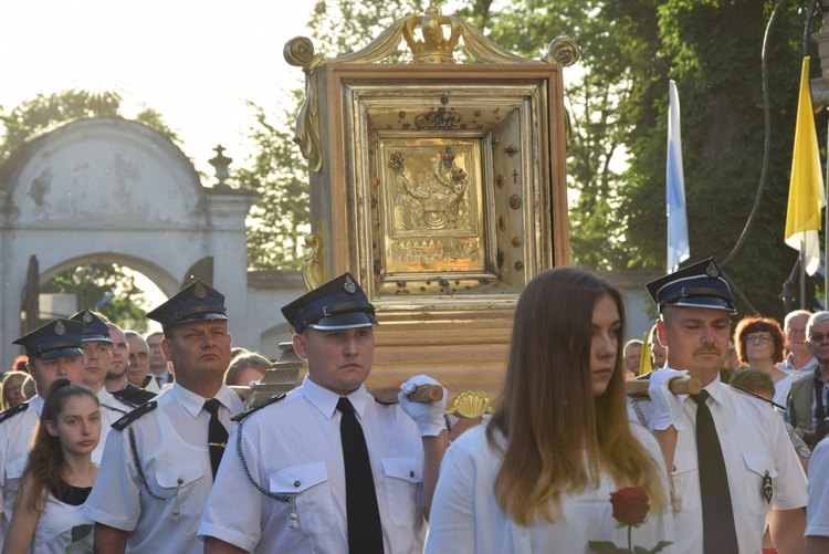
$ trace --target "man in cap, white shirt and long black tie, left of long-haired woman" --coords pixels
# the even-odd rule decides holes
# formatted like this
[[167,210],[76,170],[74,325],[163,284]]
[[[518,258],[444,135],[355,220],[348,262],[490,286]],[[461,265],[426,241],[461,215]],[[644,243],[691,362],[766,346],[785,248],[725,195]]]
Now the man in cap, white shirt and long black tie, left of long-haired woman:
[[[449,443],[445,390],[436,403],[412,403],[402,393],[401,405],[375,401],[364,383],[377,320],[349,273],[282,313],[308,375],[287,397],[250,410],[237,425],[199,527],[206,554],[422,552]],[[437,383],[412,377],[402,390],[423,384]],[[347,422],[355,416],[367,450],[367,481],[356,489]]]

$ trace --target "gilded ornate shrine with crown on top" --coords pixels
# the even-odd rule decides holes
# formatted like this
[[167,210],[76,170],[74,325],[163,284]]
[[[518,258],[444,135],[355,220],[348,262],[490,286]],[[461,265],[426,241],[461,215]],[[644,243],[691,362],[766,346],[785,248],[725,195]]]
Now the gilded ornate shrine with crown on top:
[[[385,63],[403,41],[411,63]],[[427,373],[496,396],[518,295],[568,261],[562,70],[578,48],[527,60],[430,4],[354,53],[323,60],[305,38],[284,53],[306,74],[306,285],[360,280],[380,321],[369,386]]]

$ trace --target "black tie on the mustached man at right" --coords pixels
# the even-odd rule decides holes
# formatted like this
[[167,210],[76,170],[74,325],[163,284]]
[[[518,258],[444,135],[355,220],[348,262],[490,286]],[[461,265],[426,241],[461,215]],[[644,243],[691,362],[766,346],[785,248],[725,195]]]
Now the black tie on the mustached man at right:
[[696,408],[696,460],[700,468],[702,495],[702,534],[705,554],[736,554],[737,533],[728,492],[723,450],[716,435],[714,418],[705,404],[709,391],[691,395]]

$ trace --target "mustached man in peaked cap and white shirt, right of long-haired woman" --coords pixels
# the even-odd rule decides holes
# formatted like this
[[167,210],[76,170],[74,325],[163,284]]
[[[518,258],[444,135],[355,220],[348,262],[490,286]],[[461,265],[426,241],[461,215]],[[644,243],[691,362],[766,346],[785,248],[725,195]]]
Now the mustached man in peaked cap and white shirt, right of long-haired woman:
[[[651,375],[655,411],[648,425],[672,483],[674,552],[759,553],[767,523],[779,553],[802,552],[806,477],[783,420],[765,401],[720,381],[735,313],[722,270],[712,258],[647,288],[668,347],[665,369]],[[668,391],[668,381],[685,374],[700,379],[701,395]]]

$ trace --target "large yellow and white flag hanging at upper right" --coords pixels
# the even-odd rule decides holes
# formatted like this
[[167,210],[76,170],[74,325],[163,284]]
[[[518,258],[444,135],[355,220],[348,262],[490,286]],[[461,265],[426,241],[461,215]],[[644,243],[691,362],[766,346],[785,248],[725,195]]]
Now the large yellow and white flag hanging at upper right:
[[806,253],[806,272],[820,266],[820,208],[823,206],[823,176],[820,170],[818,136],[809,90],[809,56],[804,58],[800,98],[797,104],[795,153],[791,158],[789,203],[786,210],[786,244]]

